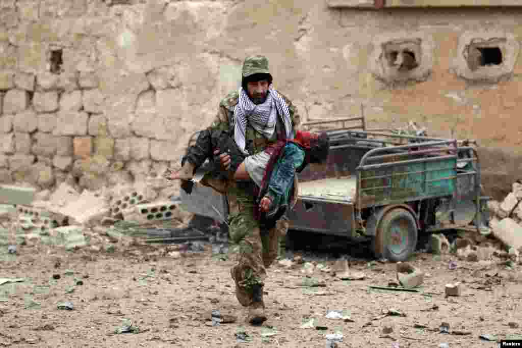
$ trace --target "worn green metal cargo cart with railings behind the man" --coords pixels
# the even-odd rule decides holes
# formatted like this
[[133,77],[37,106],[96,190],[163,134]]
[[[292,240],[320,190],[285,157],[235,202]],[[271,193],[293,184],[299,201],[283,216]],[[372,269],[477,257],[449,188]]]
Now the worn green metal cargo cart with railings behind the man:
[[[326,130],[330,153],[327,163],[299,174],[291,230],[371,238],[377,258],[404,261],[419,233],[488,229],[488,197],[481,196],[480,161],[469,141],[365,130],[363,117],[303,126]],[[190,195],[181,190],[181,200],[188,211],[226,220],[226,197],[209,187],[196,183]]]

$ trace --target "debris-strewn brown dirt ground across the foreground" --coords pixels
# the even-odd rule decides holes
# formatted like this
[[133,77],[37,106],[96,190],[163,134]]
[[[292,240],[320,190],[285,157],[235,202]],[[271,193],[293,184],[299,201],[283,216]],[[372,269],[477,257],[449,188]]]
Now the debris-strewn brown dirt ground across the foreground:
[[[0,346],[326,347],[326,335],[336,332],[343,335],[338,347],[496,347],[479,336],[522,338],[520,265],[419,253],[411,263],[426,273],[424,283],[418,292],[401,292],[369,287],[394,280],[394,263],[351,260],[350,269],[366,277],[351,281],[276,263],[265,286],[269,320],[253,327],[233,293],[233,258],[212,255],[211,245],[179,258],[168,252],[165,245],[115,253],[19,246],[0,262],[0,278],[24,279],[0,285]],[[333,265],[318,259],[313,263]],[[450,260],[459,268],[448,269]],[[444,285],[455,281],[462,282],[461,295],[445,297]],[[58,309],[65,301],[74,309]],[[237,321],[211,326],[212,309]],[[389,309],[404,316],[381,315]],[[352,321],[327,319],[329,310],[343,310]],[[326,329],[300,328],[312,318]],[[440,332],[442,322],[449,333]],[[128,325],[135,331],[116,333]],[[384,333],[385,326],[393,331]],[[246,342],[238,340],[242,331]]]

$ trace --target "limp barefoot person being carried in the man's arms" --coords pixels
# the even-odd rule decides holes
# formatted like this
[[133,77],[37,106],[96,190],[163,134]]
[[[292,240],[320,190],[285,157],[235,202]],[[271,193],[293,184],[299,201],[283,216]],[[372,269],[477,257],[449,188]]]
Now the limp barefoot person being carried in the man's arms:
[[188,148],[182,168],[168,178],[190,180],[195,169],[213,158],[215,150],[230,155],[230,167],[222,176],[236,181],[248,178],[257,185],[259,210],[268,218],[278,211],[278,215],[284,213],[280,208],[288,205],[296,172],[300,173],[308,163],[327,160],[329,140],[326,133],[296,131],[294,139],[271,143],[265,150],[247,155],[226,131],[208,128]]

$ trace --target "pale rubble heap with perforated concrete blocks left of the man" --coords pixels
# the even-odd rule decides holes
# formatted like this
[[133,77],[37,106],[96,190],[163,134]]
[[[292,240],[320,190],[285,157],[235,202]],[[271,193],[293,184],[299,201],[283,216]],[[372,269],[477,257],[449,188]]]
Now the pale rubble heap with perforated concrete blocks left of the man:
[[180,208],[180,202],[164,197],[168,186],[172,185],[166,179],[151,177],[134,185],[84,189],[81,193],[65,182],[53,192],[33,192],[17,205],[0,207],[0,244],[40,241],[68,250],[90,245],[95,251],[114,250],[115,243],[140,244],[136,238],[143,233],[136,235],[133,229],[122,228],[125,224],[115,223],[144,228],[168,223],[175,227],[192,218]]

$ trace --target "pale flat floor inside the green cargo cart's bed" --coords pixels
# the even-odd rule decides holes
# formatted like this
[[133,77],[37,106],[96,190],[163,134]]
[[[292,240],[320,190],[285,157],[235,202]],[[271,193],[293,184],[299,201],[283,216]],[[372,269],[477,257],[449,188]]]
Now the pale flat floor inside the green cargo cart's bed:
[[355,175],[299,182],[298,197],[345,203],[354,202],[356,187],[357,176]]

